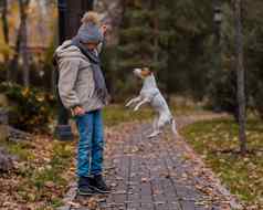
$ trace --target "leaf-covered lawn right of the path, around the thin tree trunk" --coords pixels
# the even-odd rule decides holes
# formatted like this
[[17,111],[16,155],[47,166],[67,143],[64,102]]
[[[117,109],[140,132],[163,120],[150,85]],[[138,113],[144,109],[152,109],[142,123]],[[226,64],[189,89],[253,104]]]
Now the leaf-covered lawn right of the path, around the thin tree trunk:
[[246,207],[263,209],[263,123],[248,122],[249,154],[239,153],[238,125],[218,119],[190,125],[182,130],[186,139],[202,156],[221,180]]

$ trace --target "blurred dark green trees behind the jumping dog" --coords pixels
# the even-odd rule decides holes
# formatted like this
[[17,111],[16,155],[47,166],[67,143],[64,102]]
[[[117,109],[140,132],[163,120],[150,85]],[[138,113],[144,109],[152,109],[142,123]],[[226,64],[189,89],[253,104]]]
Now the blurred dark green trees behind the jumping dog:
[[[124,2],[119,43],[106,49],[104,59],[114,95],[133,94],[133,69],[150,66],[167,97],[179,94],[206,99],[210,107],[238,116],[235,1],[218,1],[222,10],[220,46],[211,0]],[[263,2],[243,0],[241,8],[246,101],[262,115]],[[220,64],[215,61],[219,48]]]

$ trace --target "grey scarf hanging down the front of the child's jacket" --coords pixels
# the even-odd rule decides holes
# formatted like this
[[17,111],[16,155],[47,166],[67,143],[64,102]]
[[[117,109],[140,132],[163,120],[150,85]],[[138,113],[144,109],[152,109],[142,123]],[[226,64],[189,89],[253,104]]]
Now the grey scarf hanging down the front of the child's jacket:
[[90,60],[95,83],[95,94],[99,99],[102,99],[103,104],[107,104],[108,91],[101,69],[101,60],[97,53],[95,51],[88,50],[84,44],[82,44],[77,36],[72,39],[72,45],[77,46],[81,52]]

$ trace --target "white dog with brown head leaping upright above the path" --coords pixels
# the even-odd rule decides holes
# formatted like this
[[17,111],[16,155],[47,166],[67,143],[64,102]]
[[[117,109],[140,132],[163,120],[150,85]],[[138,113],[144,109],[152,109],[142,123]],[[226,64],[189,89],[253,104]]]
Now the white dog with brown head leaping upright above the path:
[[157,87],[156,80],[154,73],[150,72],[148,69],[135,69],[134,74],[144,80],[144,86],[140,91],[138,97],[130,99],[126,107],[136,104],[134,111],[138,111],[143,104],[149,103],[150,106],[155,109],[158,116],[155,117],[152,128],[154,132],[148,136],[148,138],[152,138],[161,134],[161,129],[165,125],[170,124],[172,133],[178,135],[176,128],[176,120],[171,115],[171,112],[161,95],[159,88]]

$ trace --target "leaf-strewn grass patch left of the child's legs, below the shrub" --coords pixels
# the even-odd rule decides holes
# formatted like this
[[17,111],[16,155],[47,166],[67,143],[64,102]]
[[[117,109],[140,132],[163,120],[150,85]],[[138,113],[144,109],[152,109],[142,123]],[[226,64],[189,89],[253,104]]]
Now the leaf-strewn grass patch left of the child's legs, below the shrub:
[[[33,141],[1,141],[8,151],[19,158],[15,171],[4,181],[12,191],[12,200],[33,206],[32,209],[51,210],[62,204],[62,198],[72,180],[74,143],[59,143],[38,137]],[[18,183],[13,183],[15,178]],[[0,189],[0,193],[4,189]],[[22,207],[21,207],[22,208]]]

